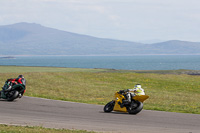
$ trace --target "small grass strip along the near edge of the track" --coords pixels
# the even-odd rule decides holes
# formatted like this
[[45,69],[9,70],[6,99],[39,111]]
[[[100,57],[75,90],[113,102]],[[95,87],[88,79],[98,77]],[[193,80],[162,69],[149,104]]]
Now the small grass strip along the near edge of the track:
[[43,127],[0,125],[0,133],[94,133],[85,130],[50,129]]

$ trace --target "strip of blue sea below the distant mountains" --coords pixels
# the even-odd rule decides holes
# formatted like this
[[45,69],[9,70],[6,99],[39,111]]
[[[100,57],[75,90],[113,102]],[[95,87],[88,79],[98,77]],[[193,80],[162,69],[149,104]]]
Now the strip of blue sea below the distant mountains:
[[118,70],[200,70],[200,55],[15,56],[0,57],[0,65]]

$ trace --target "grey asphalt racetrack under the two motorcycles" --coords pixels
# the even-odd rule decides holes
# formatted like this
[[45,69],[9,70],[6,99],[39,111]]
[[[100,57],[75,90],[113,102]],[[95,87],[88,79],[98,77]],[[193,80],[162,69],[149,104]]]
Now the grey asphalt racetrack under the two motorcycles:
[[[144,104],[145,106],[145,104]],[[121,133],[200,133],[200,115],[142,110],[104,113],[102,105],[22,97],[0,100],[0,124]]]

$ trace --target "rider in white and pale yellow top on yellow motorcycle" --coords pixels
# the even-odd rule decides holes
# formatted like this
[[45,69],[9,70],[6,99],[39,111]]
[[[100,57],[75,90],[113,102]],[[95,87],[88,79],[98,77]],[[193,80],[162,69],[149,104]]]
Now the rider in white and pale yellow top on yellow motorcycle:
[[136,95],[145,95],[145,91],[142,89],[141,84],[136,84],[133,89],[120,90],[119,93],[125,95],[126,100],[123,100],[124,103],[130,103],[132,97]]

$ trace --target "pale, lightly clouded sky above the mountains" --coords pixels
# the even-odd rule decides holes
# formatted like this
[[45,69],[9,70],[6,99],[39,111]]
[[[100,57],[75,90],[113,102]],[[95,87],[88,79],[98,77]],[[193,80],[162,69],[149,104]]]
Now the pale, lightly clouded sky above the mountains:
[[0,0],[0,25],[19,22],[134,42],[200,42],[200,0]]

